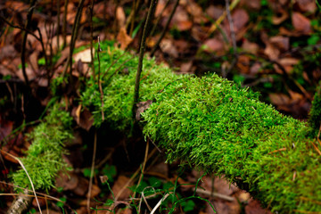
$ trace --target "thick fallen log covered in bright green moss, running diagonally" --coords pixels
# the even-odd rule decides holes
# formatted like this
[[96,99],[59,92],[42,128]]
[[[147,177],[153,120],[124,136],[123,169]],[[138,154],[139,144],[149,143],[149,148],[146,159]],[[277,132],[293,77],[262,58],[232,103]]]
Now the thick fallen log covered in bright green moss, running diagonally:
[[[106,44],[103,50],[109,50],[101,56],[102,70],[108,70],[102,75],[105,120],[127,130],[137,58],[129,53],[119,58],[123,52]],[[152,101],[142,113],[144,135],[166,149],[169,161],[225,176],[279,213],[321,210],[320,145],[306,123],[215,74],[178,76],[146,59],[143,70],[140,102]],[[99,126],[102,103],[94,78],[87,80],[81,100]]]

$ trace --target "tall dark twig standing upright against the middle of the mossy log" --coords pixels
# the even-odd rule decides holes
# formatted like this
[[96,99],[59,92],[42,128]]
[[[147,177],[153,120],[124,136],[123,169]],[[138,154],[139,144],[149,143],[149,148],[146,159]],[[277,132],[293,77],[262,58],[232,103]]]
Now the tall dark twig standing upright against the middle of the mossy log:
[[150,8],[148,10],[147,19],[144,24],[144,31],[143,31],[143,37],[141,40],[140,45],[140,51],[139,51],[139,61],[138,61],[138,67],[137,67],[137,73],[136,73],[136,82],[135,82],[135,91],[134,91],[134,103],[133,103],[133,119],[135,119],[136,115],[136,103],[138,102],[139,98],[139,83],[140,83],[140,76],[143,69],[143,58],[144,58],[144,48],[145,48],[145,42],[146,42],[146,36],[147,31],[149,29],[150,22],[152,20],[152,11],[154,10],[155,5],[157,4],[157,0],[152,0],[150,4]]

